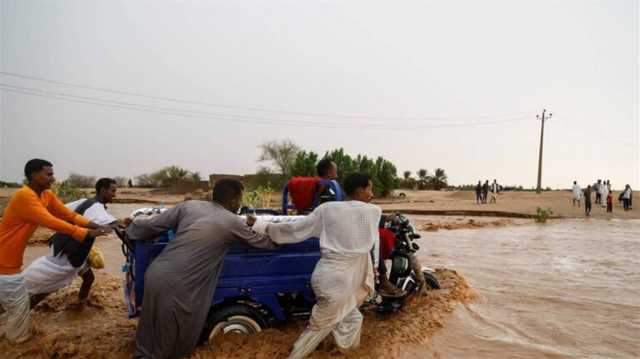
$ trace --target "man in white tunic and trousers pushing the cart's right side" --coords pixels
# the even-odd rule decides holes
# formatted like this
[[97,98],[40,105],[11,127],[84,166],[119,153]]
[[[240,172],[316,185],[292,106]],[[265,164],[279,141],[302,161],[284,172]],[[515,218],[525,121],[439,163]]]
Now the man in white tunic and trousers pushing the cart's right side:
[[374,290],[371,250],[378,253],[382,214],[380,207],[369,203],[372,187],[368,175],[352,174],[344,182],[346,201],[324,203],[297,222],[264,223],[258,219],[254,225],[275,243],[320,238],[321,257],[311,277],[317,302],[290,359],[306,357],[329,334],[340,349],[360,343],[363,317],[358,307]]

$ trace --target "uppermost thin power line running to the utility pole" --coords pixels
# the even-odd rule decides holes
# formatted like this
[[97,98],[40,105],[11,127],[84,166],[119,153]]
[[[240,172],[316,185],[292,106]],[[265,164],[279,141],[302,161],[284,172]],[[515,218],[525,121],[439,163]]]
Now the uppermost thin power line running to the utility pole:
[[176,99],[172,97],[148,95],[148,94],[142,94],[142,93],[137,93],[132,91],[122,91],[122,90],[107,89],[107,88],[88,86],[88,85],[79,85],[79,84],[74,84],[69,82],[51,80],[51,79],[46,79],[42,77],[29,76],[29,75],[6,72],[6,71],[0,71],[0,74],[3,74],[5,76],[26,79],[26,80],[47,82],[47,83],[56,84],[56,85],[69,86],[69,87],[75,87],[80,89],[88,89],[92,91],[100,91],[100,92],[106,92],[106,93],[112,93],[112,94],[118,94],[118,95],[136,96],[136,97],[147,98],[151,100],[169,101],[174,103],[183,103],[183,104],[208,106],[208,107],[219,107],[219,108],[226,108],[226,109],[232,109],[232,110],[267,112],[267,113],[273,113],[273,114],[295,115],[295,116],[306,116],[306,117],[322,117],[322,118],[332,117],[332,118],[351,118],[351,119],[369,119],[369,120],[377,119],[377,120],[384,120],[384,121],[390,121],[390,120],[394,120],[394,121],[397,121],[397,120],[434,121],[435,120],[437,121],[437,120],[446,120],[446,119],[452,119],[452,118],[468,119],[469,117],[474,117],[474,118],[495,118],[495,117],[503,117],[503,116],[508,117],[512,115],[522,115],[522,114],[532,113],[532,111],[528,111],[528,112],[517,112],[517,113],[509,113],[509,114],[502,114],[502,115],[474,115],[474,116],[374,116],[374,115],[359,115],[359,114],[302,112],[302,111],[289,111],[289,110],[281,110],[281,109],[269,109],[269,108],[262,108],[262,107],[223,105],[223,104],[216,104],[216,103],[210,103],[210,102],[204,102],[204,101]]

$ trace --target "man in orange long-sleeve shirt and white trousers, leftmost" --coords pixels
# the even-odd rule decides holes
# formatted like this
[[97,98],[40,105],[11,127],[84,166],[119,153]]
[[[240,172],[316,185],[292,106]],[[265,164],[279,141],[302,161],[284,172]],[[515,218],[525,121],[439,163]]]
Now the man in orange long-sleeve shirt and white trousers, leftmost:
[[[69,210],[51,191],[53,165],[45,160],[27,162],[28,184],[16,192],[0,221],[0,336],[13,342],[29,339],[29,296],[20,273],[29,237],[41,225],[65,233],[77,241],[111,231]],[[71,224],[73,223],[73,224]],[[5,333],[6,325],[6,333]]]

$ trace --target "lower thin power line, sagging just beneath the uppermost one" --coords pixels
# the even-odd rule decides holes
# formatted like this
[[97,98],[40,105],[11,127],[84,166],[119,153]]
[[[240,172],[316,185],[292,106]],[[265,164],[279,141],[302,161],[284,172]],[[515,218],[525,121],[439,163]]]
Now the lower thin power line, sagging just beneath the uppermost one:
[[0,88],[4,91],[18,93],[18,94],[37,96],[37,97],[62,100],[62,101],[68,101],[68,102],[74,102],[74,103],[81,103],[81,104],[97,105],[97,106],[108,107],[108,108],[118,108],[118,109],[134,110],[134,111],[141,111],[141,112],[152,112],[152,113],[176,115],[176,116],[189,117],[189,118],[212,119],[212,120],[244,122],[244,123],[259,123],[259,124],[270,124],[270,125],[283,125],[283,126],[293,126],[293,127],[321,127],[321,128],[333,128],[333,129],[357,128],[357,129],[364,129],[364,130],[413,131],[416,129],[484,126],[484,125],[491,125],[491,124],[497,124],[497,123],[524,121],[529,119],[528,116],[527,117],[520,116],[516,118],[484,121],[484,122],[449,123],[449,124],[425,125],[425,126],[393,126],[393,127],[367,125],[366,127],[362,127],[362,124],[296,122],[292,120],[278,120],[278,119],[272,119],[272,118],[257,118],[257,117],[249,117],[249,116],[238,116],[238,115],[232,115],[232,114],[214,114],[214,113],[199,112],[199,111],[180,110],[180,109],[174,109],[174,108],[163,108],[163,107],[156,107],[156,106],[149,106],[149,105],[141,105],[136,103],[129,103],[125,101],[113,101],[113,100],[105,100],[101,98],[88,97],[88,96],[70,95],[66,93],[51,92],[51,91],[27,88],[22,86],[9,85],[4,83],[0,83]]

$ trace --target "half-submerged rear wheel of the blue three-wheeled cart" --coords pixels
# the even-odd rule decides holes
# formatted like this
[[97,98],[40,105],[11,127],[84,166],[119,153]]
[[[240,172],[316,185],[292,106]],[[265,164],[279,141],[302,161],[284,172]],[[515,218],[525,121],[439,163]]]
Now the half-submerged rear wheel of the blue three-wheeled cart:
[[253,335],[266,326],[267,323],[260,312],[245,304],[211,308],[200,342],[204,344],[212,341],[216,335],[229,333]]

